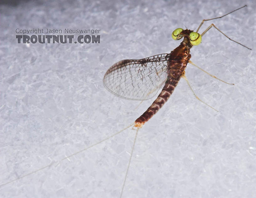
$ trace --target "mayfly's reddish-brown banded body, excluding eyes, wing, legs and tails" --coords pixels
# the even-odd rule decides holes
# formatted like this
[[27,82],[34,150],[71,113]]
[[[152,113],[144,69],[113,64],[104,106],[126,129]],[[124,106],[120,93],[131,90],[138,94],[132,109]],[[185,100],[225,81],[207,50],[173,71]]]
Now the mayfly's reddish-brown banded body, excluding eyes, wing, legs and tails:
[[183,30],[184,40],[180,45],[175,48],[169,56],[167,62],[168,77],[166,83],[158,95],[157,99],[151,104],[151,106],[135,120],[135,127],[141,128],[145,122],[147,122],[157,111],[163,106],[173,93],[174,88],[177,86],[179,79],[184,75],[186,66],[191,58],[190,48],[192,44],[189,42],[189,33],[191,30]]

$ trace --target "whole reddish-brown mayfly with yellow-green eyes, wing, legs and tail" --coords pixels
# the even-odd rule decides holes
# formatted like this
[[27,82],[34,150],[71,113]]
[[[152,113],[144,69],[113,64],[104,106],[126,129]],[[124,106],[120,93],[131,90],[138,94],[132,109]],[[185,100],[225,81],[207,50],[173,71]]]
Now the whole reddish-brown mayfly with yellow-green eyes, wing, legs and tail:
[[[244,8],[246,6],[247,5],[241,8]],[[232,12],[235,12],[241,8],[233,10]],[[122,196],[122,193],[124,190],[126,177],[128,174],[130,163],[131,163],[131,157],[133,154],[133,150],[134,150],[134,146],[135,146],[135,142],[138,134],[138,129],[141,128],[150,118],[152,118],[152,116],[157,113],[157,111],[163,106],[163,104],[166,103],[166,101],[169,99],[169,97],[173,93],[174,88],[177,86],[181,78],[184,78],[187,81],[189,88],[192,90],[193,94],[195,95],[195,92],[191,88],[185,76],[185,69],[188,63],[191,63],[192,65],[194,65],[199,69],[201,68],[189,60],[191,58],[190,49],[194,45],[199,45],[201,43],[202,36],[211,27],[216,28],[220,33],[222,33],[231,41],[238,43],[237,41],[232,40],[226,34],[221,32],[221,30],[219,30],[213,23],[208,28],[206,28],[203,33],[201,34],[198,33],[199,29],[201,28],[201,26],[205,21],[222,18],[230,13],[227,13],[221,17],[204,19],[200,23],[196,32],[189,29],[184,30],[182,28],[177,28],[173,31],[172,38],[174,40],[179,40],[183,38],[183,41],[171,53],[157,54],[148,58],[142,58],[138,60],[137,59],[121,60],[115,63],[113,66],[111,66],[107,70],[106,74],[104,75],[103,84],[106,87],[106,89],[108,89],[111,93],[121,98],[131,99],[131,100],[150,99],[157,93],[158,89],[164,84],[162,91],[157,96],[157,99],[155,99],[154,102],[151,104],[151,106],[134,122],[134,127],[137,128],[137,131],[136,131],[135,139],[133,142],[130,160],[126,170],[125,179],[123,182],[120,197]],[[241,43],[238,43],[238,44],[242,45],[243,47],[246,47]],[[251,50],[251,48],[248,48],[248,49]],[[204,71],[206,74],[210,75],[211,77],[218,79],[216,76],[209,74],[205,70],[203,69],[201,70]],[[218,79],[218,80],[221,80],[221,79]],[[221,81],[224,83],[227,83],[223,80]],[[230,83],[227,83],[227,84],[230,84]],[[195,97],[199,99],[196,95]],[[200,101],[203,102],[202,100]]]

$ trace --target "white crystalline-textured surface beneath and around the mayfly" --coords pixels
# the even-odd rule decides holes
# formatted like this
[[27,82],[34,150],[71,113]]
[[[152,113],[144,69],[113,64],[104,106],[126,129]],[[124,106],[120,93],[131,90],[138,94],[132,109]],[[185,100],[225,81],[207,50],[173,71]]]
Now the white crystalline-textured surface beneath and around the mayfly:
[[[244,4],[212,22],[252,51],[213,28],[191,49],[194,63],[235,86],[186,69],[198,96],[220,112],[196,100],[181,79],[139,130],[123,198],[255,197],[253,0],[43,2],[0,5],[0,197],[119,197],[134,130],[56,166],[134,122],[151,104],[135,109],[138,101],[109,93],[104,73],[121,59],[169,53],[180,43],[171,38],[174,29],[195,29]],[[101,29],[101,43],[27,46],[17,44],[16,28]]]

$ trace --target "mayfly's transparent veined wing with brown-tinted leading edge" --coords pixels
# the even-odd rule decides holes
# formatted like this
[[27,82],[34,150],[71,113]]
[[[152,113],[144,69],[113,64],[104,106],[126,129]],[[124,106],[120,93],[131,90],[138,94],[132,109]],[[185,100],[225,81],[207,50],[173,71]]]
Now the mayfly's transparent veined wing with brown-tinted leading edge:
[[103,84],[121,98],[150,99],[166,81],[169,56],[163,53],[139,60],[121,60],[108,69]]

